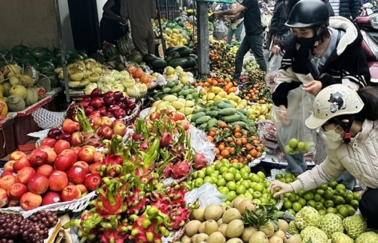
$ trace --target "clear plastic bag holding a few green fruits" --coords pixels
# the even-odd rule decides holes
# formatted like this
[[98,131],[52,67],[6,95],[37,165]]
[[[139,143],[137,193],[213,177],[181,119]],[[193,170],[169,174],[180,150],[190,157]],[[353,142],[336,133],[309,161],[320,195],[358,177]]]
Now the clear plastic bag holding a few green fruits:
[[277,141],[287,154],[307,153],[315,149],[316,130],[309,129],[304,121],[313,112],[314,97],[302,86],[287,95],[287,111],[271,108],[271,120],[277,129]]

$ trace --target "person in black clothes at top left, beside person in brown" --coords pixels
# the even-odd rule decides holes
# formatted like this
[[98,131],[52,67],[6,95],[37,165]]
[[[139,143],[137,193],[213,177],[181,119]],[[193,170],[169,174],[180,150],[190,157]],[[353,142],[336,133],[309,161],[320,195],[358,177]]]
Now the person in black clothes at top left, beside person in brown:
[[121,0],[108,0],[102,8],[100,21],[101,43],[107,41],[115,44],[123,35],[122,24],[126,25],[126,19],[120,15]]

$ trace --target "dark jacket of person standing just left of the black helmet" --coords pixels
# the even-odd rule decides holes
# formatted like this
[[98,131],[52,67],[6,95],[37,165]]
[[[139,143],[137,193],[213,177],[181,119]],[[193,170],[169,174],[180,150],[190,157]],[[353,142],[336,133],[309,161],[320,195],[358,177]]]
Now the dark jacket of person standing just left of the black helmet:
[[285,10],[285,4],[284,1],[281,0],[276,2],[276,5],[274,5],[274,12],[273,16],[271,17],[270,24],[271,34],[282,36],[282,34],[288,32],[290,28],[285,25],[286,21],[287,14]]

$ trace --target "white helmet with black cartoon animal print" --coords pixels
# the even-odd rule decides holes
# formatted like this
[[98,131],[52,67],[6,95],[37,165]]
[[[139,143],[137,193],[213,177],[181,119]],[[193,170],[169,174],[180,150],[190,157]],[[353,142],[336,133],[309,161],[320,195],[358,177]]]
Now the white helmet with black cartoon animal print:
[[364,108],[364,102],[357,92],[345,84],[330,85],[316,95],[313,101],[313,114],[306,119],[306,126],[315,129],[329,119],[340,115],[353,115]]

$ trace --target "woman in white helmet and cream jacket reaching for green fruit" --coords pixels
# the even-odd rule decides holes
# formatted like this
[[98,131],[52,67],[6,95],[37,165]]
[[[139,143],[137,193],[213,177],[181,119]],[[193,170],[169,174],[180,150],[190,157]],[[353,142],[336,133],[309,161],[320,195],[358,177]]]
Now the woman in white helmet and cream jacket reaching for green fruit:
[[373,87],[355,91],[344,84],[322,89],[313,102],[313,114],[306,126],[321,127],[326,141],[327,157],[323,163],[286,184],[271,183],[286,192],[311,190],[335,180],[345,170],[366,185],[359,211],[368,228],[378,229],[378,93]]

